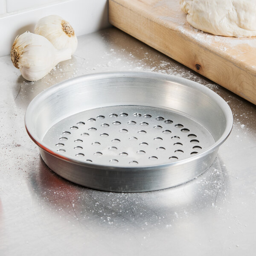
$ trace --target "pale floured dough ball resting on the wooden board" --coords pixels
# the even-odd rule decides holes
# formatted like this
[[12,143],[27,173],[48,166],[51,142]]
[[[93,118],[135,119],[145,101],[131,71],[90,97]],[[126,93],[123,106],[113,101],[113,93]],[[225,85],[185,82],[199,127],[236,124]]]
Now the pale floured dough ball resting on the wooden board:
[[180,0],[187,21],[214,35],[256,36],[256,0]]

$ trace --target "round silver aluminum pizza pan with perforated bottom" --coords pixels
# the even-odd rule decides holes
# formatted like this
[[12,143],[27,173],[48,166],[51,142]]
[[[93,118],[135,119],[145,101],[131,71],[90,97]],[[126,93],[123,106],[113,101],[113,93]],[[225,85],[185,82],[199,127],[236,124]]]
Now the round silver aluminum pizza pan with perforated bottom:
[[139,192],[204,172],[233,116],[220,96],[196,82],[117,72],[50,87],[29,104],[25,124],[58,175],[91,188]]

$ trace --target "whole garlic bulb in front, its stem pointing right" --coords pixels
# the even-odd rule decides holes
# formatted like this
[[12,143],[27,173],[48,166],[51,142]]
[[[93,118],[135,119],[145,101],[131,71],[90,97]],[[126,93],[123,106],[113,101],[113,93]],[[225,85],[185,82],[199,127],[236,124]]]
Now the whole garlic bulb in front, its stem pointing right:
[[15,38],[11,59],[29,81],[46,76],[55,65],[71,58],[71,49],[57,50],[43,36],[25,32]]

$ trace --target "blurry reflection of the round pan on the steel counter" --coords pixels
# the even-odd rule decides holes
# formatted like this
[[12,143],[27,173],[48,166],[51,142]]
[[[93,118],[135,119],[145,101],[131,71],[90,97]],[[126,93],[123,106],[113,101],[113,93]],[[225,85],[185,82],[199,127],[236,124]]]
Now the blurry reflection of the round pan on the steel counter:
[[[177,216],[182,221],[187,214],[201,214],[211,211],[213,206],[221,207],[228,186],[229,175],[218,156],[212,166],[194,180],[152,192],[105,192],[80,186],[56,175],[42,159],[39,172],[33,173],[29,180],[31,194],[36,195],[36,201],[44,210],[56,212],[58,216],[57,209],[61,209],[68,221],[78,221],[86,227],[100,225],[103,229],[109,228],[106,216],[116,223],[112,228],[144,227],[145,222],[165,227]],[[159,223],[159,219],[163,221]]]

